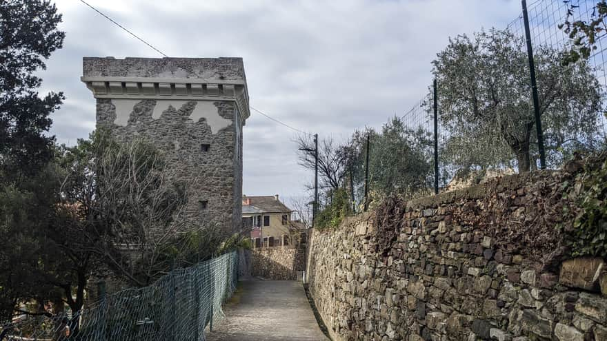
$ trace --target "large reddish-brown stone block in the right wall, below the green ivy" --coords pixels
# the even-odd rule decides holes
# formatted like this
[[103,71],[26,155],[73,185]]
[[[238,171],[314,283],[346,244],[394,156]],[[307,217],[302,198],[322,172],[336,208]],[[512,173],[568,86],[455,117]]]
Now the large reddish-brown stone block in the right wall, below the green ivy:
[[605,267],[601,258],[581,257],[561,264],[559,282],[567,287],[590,291],[599,290],[599,276]]

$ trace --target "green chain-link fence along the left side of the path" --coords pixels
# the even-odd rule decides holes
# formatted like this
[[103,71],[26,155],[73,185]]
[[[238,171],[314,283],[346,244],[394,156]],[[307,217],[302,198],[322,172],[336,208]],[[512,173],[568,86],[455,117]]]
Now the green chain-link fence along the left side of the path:
[[233,251],[176,269],[149,287],[101,297],[77,315],[28,316],[0,327],[0,341],[205,340],[223,318],[221,303],[234,293],[238,256]]

